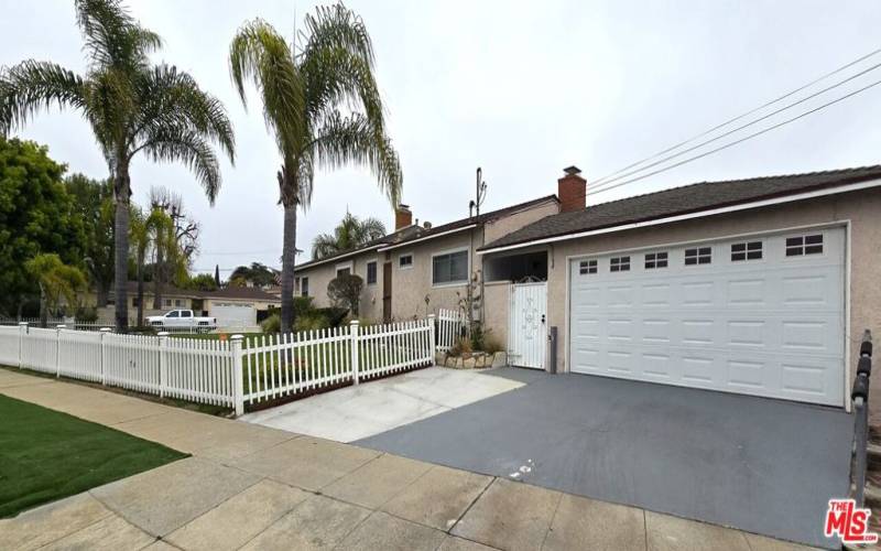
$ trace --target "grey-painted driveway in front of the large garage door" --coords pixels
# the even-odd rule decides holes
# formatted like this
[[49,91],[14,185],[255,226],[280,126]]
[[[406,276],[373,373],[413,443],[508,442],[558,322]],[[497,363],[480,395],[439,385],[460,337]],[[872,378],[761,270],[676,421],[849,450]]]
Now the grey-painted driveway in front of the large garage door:
[[814,545],[847,496],[840,410],[503,368],[527,385],[357,444]]

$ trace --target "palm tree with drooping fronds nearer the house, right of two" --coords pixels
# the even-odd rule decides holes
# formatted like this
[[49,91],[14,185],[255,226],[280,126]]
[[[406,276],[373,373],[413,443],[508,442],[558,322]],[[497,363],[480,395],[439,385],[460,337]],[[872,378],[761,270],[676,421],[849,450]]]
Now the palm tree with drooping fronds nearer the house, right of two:
[[284,208],[283,332],[291,331],[294,317],[296,209],[309,204],[315,169],[366,164],[392,205],[398,204],[403,180],[385,134],[373,47],[363,22],[335,4],[306,15],[305,28],[300,45],[289,46],[272,25],[257,19],[239,30],[229,52],[242,104],[247,106],[244,82],[251,79],[281,156],[276,180]]

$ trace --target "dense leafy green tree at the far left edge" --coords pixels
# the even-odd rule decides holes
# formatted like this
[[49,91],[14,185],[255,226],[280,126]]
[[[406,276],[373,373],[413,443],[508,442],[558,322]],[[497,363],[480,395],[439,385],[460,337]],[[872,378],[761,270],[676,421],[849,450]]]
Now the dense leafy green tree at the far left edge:
[[39,294],[24,269],[41,252],[83,258],[83,222],[62,177],[65,166],[34,142],[0,137],[0,313],[20,316]]

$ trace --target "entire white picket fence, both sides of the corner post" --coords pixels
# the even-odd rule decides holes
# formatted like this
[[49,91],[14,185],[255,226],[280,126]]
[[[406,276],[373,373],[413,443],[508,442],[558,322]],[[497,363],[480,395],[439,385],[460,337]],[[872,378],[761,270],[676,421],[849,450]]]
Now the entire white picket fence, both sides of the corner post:
[[[242,346],[244,345],[244,346]],[[233,408],[330,390],[434,363],[435,321],[269,335],[242,342],[0,326],[0,364]]]

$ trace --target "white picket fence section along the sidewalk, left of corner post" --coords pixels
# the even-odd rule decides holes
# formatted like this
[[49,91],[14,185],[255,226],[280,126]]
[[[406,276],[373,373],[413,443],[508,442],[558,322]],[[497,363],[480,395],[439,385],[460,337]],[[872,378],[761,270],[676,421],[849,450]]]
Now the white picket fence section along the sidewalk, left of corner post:
[[240,336],[220,342],[0,326],[0,364],[241,413]]

